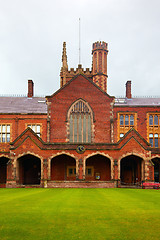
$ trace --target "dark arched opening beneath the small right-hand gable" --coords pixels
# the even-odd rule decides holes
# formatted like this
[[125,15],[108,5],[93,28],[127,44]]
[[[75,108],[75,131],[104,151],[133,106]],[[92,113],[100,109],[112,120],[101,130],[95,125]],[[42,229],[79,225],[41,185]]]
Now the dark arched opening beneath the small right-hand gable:
[[121,159],[120,178],[121,184],[134,185],[142,181],[143,159],[129,155]]

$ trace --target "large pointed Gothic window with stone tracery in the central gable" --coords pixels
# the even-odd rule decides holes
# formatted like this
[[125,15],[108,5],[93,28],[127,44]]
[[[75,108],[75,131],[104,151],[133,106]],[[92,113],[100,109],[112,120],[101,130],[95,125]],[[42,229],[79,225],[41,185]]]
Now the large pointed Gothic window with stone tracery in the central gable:
[[71,106],[68,112],[71,143],[91,142],[92,116],[92,110],[83,100],[78,100]]

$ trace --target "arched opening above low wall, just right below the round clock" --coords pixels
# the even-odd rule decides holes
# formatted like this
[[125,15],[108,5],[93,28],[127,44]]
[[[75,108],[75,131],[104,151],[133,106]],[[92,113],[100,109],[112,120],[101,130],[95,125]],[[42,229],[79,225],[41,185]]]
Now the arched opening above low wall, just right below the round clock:
[[86,159],[85,179],[87,181],[110,181],[111,161],[109,158],[96,154]]

